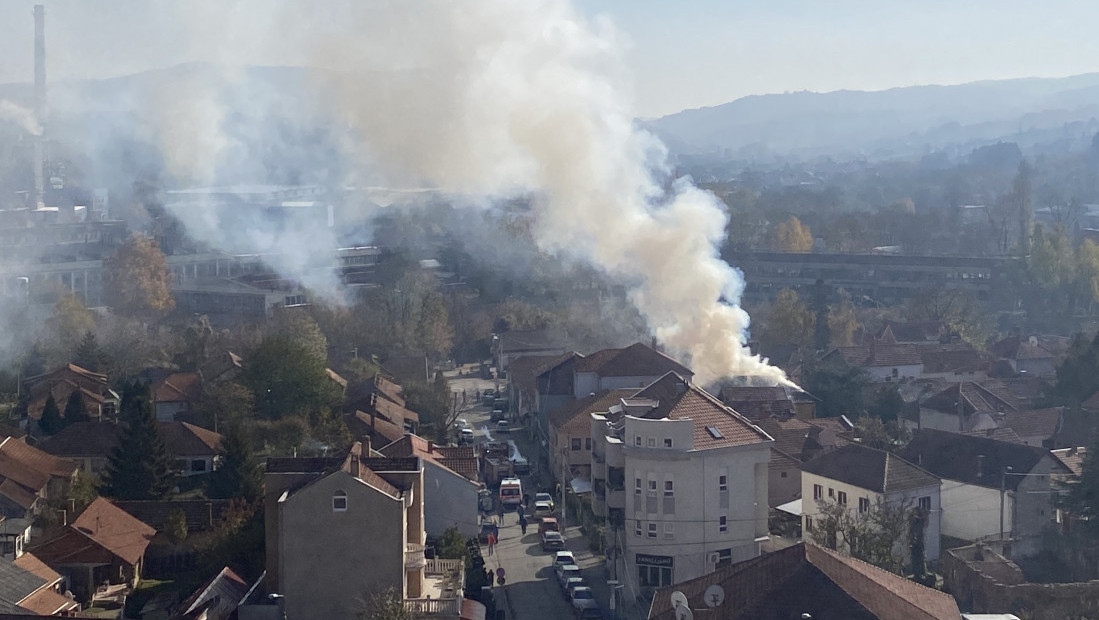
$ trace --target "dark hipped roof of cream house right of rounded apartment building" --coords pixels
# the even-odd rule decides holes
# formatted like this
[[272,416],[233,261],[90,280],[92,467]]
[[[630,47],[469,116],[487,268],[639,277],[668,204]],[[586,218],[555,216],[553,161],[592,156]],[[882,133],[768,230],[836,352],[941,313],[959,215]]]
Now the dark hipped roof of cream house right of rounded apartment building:
[[940,481],[895,454],[853,443],[821,454],[802,465],[801,470],[881,494],[935,486]]

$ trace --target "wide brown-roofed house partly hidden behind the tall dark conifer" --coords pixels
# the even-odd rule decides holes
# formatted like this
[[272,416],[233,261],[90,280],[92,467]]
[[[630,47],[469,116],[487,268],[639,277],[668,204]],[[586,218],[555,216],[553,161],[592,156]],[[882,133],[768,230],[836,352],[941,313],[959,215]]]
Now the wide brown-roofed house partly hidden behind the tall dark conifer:
[[[196,476],[213,472],[221,453],[221,435],[187,422],[156,423],[160,436],[175,458],[180,475]],[[107,469],[111,451],[119,443],[121,427],[109,422],[77,422],[47,438],[38,447],[62,458],[75,461],[87,474]]]

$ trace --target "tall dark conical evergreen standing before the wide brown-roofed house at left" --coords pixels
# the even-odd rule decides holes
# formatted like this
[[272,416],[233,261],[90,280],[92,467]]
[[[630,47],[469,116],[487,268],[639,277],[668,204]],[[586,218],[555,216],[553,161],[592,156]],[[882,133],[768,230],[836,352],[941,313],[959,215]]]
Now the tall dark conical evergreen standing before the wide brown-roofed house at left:
[[175,472],[147,386],[134,384],[124,390],[119,420],[119,444],[111,451],[100,491],[115,499],[162,498],[171,488]]

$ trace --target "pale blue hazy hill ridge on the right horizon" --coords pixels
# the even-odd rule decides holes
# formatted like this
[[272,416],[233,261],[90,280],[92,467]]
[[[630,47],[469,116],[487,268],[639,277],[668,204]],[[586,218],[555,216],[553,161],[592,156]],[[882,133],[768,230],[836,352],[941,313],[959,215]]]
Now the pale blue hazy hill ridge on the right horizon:
[[[680,154],[890,157],[1096,125],[1099,74],[743,97],[642,124]],[[1099,128],[1099,125],[1097,125]],[[1095,131],[1091,128],[1088,131]]]

